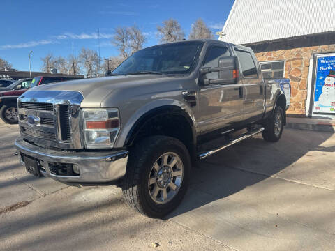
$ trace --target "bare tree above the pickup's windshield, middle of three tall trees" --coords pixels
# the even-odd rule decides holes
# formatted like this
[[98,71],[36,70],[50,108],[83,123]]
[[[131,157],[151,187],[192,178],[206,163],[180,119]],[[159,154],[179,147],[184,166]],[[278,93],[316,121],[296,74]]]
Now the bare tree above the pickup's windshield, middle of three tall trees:
[[158,38],[161,43],[169,43],[183,40],[185,37],[184,31],[177,20],[170,18],[163,22],[163,26],[157,26]]

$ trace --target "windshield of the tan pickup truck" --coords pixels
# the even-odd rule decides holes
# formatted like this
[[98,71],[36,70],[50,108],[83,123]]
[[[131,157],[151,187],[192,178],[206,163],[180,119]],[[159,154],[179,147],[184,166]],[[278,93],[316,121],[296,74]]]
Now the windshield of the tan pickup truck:
[[202,45],[200,41],[192,41],[149,47],[126,59],[112,75],[189,73]]

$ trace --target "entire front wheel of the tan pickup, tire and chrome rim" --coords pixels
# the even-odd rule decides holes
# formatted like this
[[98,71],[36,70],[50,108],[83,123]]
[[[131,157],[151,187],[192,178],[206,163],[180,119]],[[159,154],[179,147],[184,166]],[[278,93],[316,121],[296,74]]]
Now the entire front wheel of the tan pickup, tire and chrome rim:
[[129,152],[122,189],[124,198],[129,206],[142,215],[163,218],[177,208],[184,198],[190,169],[190,155],[178,139],[148,137]]

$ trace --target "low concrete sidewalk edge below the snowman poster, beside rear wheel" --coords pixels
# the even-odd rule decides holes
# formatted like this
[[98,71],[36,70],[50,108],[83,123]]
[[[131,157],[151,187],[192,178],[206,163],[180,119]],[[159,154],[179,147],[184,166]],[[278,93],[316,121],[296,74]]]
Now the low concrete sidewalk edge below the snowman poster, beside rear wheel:
[[292,118],[286,119],[286,127],[299,130],[335,132],[334,119]]

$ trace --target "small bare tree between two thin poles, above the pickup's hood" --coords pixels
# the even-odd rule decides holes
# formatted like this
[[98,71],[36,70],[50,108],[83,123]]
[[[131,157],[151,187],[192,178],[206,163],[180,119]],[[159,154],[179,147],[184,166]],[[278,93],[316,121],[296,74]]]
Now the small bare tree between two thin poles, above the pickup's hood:
[[98,77],[99,62],[101,61],[98,52],[83,47],[78,59],[84,68],[86,77]]

